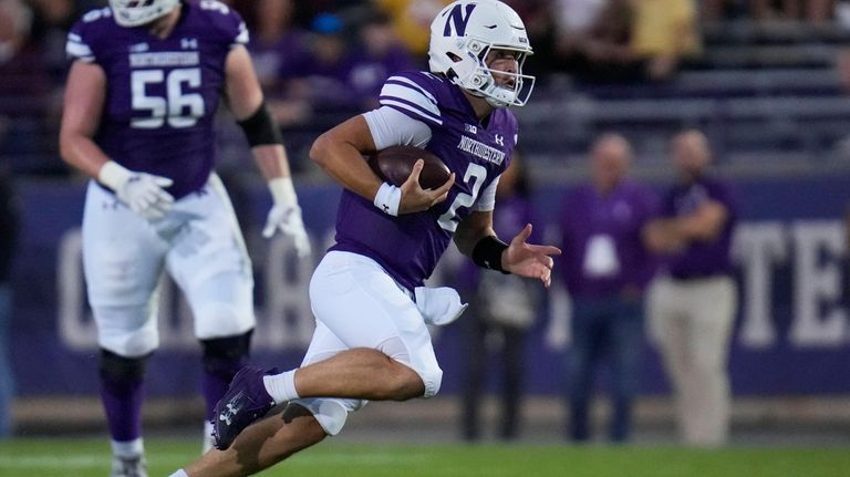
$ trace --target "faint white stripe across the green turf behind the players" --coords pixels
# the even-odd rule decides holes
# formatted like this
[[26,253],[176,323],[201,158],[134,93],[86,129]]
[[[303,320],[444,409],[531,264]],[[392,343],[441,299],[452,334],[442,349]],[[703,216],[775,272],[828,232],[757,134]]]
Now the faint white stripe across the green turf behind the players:
[[[326,465],[326,464],[351,464],[351,465],[365,465],[365,466],[385,466],[385,465],[401,465],[412,463],[427,463],[431,460],[431,456],[427,454],[322,454],[322,455],[296,455],[293,457],[299,465]],[[175,466],[180,464],[187,464],[188,459],[185,454],[182,453],[148,453],[147,455],[148,466],[152,460],[158,460],[162,463],[174,462]],[[108,454],[79,454],[66,457],[55,456],[0,456],[0,469],[19,468],[19,469],[38,469],[38,468],[90,468],[108,466]]]

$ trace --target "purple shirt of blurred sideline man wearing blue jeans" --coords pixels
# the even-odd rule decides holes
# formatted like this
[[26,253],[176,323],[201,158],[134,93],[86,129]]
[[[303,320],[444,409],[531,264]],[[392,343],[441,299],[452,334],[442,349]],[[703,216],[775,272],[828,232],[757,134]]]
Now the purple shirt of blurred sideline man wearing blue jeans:
[[[643,289],[652,278],[654,261],[641,235],[657,211],[655,195],[631,180],[604,196],[591,185],[569,194],[560,219],[560,262],[570,293],[599,297],[619,293],[626,286]],[[613,256],[600,257],[607,253]]]

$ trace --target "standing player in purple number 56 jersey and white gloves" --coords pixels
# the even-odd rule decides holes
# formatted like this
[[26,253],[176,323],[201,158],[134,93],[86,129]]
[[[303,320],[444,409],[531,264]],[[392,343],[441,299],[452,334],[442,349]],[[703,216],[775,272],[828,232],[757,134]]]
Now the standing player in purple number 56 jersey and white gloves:
[[195,317],[208,418],[248,355],[255,328],[250,260],[212,170],[222,93],[273,196],[263,235],[280,229],[300,255],[310,252],[247,41],[240,17],[210,0],[111,0],[83,15],[68,37],[74,61],[60,145],[64,160],[93,179],[83,263],[101,348],[113,476],[146,475],[141,407],[145,360],[159,343],[163,270]]

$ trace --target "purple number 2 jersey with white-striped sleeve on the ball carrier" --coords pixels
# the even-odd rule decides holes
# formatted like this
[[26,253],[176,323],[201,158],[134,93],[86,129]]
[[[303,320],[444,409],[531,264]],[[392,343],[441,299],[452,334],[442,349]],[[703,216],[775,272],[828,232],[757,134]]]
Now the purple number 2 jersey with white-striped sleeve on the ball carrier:
[[517,120],[510,111],[497,108],[481,124],[458,86],[424,72],[391,76],[380,101],[431,127],[425,148],[455,173],[455,184],[445,201],[398,217],[343,190],[336,243],[331,249],[371,257],[398,283],[413,289],[434,271],[478,194],[508,167],[517,141]]

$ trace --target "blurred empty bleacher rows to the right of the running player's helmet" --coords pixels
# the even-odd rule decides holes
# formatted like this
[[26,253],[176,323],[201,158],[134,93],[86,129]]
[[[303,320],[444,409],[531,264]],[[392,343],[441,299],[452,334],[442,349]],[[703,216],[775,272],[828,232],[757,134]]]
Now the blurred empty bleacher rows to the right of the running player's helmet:
[[535,105],[518,113],[522,147],[545,165],[540,178],[570,180],[592,137],[605,131],[633,142],[639,173],[659,169],[671,134],[691,126],[708,134],[718,162],[732,169],[759,164],[765,174],[817,172],[825,163],[847,164],[850,95],[835,63],[850,31],[738,21],[704,33],[705,53],[672,81],[561,79],[537,91]]

